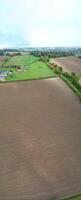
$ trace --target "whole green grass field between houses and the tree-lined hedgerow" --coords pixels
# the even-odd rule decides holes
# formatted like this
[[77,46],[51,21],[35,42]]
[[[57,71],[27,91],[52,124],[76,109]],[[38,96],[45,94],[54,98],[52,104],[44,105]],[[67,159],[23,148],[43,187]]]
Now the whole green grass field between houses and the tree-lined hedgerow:
[[40,79],[55,76],[53,70],[51,70],[47,64],[31,55],[10,57],[8,61],[4,63],[3,68],[5,69],[7,67],[7,69],[9,69],[8,66],[13,65],[24,67],[25,71],[19,72],[13,70],[13,73],[6,78],[7,81]]

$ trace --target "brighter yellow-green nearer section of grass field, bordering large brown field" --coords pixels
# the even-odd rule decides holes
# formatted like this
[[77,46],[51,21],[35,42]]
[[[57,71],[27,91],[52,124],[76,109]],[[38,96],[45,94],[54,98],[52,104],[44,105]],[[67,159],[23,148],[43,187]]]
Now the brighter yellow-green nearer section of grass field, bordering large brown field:
[[29,66],[25,66],[25,71],[14,72],[12,76],[9,76],[7,80],[29,80],[29,79],[39,79],[46,77],[54,77],[53,71],[44,62],[37,61],[33,62]]

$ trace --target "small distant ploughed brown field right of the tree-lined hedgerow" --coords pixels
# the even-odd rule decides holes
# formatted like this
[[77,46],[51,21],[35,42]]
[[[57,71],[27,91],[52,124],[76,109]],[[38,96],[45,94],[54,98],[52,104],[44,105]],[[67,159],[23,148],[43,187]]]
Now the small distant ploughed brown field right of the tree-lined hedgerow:
[[81,59],[77,57],[62,57],[62,58],[55,58],[51,59],[57,65],[63,67],[65,71],[75,72],[76,74],[81,75]]

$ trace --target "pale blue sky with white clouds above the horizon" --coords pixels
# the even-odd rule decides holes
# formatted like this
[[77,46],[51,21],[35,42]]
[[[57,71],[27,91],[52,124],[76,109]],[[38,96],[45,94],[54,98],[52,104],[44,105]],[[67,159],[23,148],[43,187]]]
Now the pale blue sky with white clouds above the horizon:
[[0,0],[0,47],[81,46],[81,0]]

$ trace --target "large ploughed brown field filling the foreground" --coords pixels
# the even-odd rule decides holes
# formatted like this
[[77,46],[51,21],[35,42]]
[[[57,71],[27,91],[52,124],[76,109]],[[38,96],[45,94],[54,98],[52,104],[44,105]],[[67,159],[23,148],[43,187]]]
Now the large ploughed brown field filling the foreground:
[[59,78],[0,85],[0,199],[81,191],[81,102]]

